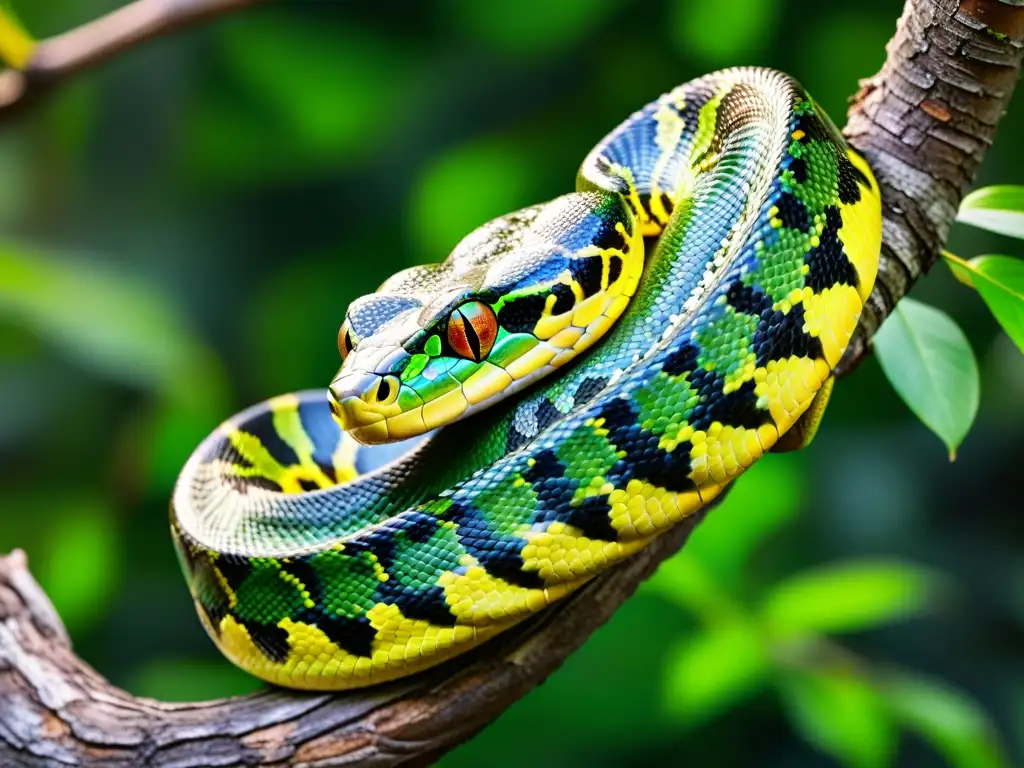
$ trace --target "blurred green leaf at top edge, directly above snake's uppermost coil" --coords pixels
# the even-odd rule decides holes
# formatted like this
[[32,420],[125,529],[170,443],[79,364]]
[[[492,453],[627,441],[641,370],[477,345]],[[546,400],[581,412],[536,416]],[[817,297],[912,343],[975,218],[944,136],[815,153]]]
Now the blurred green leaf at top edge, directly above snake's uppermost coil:
[[770,45],[780,11],[778,0],[674,0],[669,30],[684,55],[709,65],[737,63]]

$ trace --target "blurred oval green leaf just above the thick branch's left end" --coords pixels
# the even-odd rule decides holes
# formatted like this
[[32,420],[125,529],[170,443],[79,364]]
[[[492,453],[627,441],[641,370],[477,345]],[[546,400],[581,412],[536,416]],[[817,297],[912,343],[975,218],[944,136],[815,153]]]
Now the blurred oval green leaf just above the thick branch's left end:
[[123,561],[120,529],[108,503],[87,493],[51,499],[46,506],[41,522],[49,532],[33,567],[65,626],[75,634],[94,623],[114,598]]

